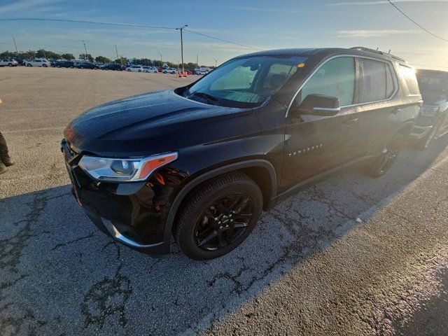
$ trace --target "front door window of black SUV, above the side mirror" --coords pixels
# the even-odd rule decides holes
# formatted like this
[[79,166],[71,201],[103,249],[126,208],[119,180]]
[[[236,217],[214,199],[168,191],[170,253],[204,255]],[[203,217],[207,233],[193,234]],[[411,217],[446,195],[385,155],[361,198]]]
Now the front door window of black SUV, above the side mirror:
[[300,102],[308,94],[337,97],[340,106],[353,104],[355,93],[354,57],[336,57],[325,62],[302,87]]

